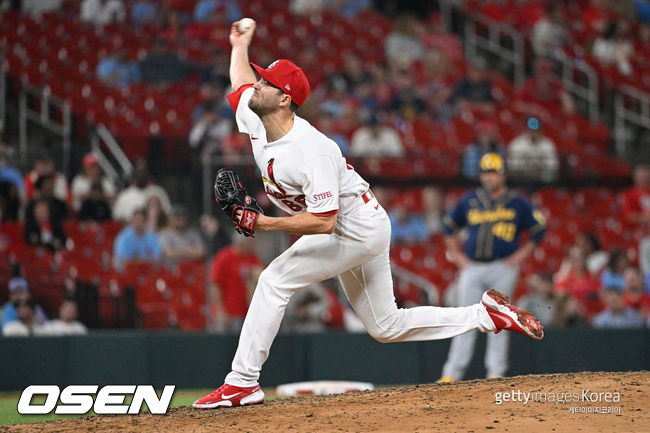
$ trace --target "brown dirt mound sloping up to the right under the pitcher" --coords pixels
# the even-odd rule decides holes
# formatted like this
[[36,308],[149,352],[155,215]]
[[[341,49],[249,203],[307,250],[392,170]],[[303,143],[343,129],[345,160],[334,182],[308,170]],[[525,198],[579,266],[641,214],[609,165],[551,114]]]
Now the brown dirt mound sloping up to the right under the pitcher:
[[[650,426],[649,391],[647,371],[516,376],[305,396],[245,408],[96,416],[0,427],[0,432],[642,432]],[[558,404],[559,398],[579,401]],[[614,413],[593,413],[595,408]]]

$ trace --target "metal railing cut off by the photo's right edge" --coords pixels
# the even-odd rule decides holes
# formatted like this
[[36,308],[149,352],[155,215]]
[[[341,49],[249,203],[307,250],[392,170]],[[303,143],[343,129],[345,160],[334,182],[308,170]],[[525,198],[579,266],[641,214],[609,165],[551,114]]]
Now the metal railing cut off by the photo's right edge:
[[614,106],[614,140],[619,157],[625,156],[631,138],[628,124],[650,130],[650,94],[623,85],[618,88]]

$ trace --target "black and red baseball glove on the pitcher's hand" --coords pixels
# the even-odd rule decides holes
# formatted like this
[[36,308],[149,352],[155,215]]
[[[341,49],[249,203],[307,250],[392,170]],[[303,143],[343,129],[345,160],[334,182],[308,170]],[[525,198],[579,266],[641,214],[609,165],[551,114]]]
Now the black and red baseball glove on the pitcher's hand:
[[[228,168],[220,169],[214,181],[214,196],[221,210],[235,223],[237,231],[255,237],[253,228],[262,208],[248,195],[237,173]],[[237,217],[237,211],[241,211],[241,218]]]

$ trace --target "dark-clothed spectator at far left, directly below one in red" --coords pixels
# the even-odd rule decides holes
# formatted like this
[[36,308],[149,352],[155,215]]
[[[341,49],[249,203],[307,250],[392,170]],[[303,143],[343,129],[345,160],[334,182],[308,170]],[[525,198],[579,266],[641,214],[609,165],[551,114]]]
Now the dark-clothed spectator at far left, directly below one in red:
[[59,218],[53,218],[47,200],[37,199],[25,211],[25,243],[42,246],[52,252],[65,247],[65,231]]

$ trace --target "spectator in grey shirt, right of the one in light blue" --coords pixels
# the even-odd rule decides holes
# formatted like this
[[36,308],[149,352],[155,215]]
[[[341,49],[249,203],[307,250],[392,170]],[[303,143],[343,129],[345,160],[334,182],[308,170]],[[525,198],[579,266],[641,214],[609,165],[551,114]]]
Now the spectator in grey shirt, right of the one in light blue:
[[205,249],[199,233],[187,227],[187,211],[175,206],[169,216],[169,226],[158,235],[163,262],[168,266],[189,260],[200,260]]

